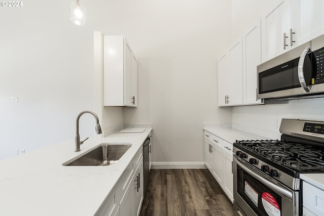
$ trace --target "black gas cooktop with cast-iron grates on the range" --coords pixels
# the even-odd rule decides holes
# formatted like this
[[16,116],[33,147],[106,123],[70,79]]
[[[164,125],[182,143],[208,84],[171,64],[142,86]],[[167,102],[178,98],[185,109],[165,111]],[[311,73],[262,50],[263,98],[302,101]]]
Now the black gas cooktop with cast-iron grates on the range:
[[312,145],[280,140],[242,140],[236,141],[234,146],[294,170],[324,170],[324,150]]

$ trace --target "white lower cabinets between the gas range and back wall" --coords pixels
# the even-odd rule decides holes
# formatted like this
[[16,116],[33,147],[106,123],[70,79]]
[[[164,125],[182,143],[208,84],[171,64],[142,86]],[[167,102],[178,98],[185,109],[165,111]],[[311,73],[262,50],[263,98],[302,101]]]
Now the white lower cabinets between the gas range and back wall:
[[233,202],[233,144],[204,131],[205,165]]

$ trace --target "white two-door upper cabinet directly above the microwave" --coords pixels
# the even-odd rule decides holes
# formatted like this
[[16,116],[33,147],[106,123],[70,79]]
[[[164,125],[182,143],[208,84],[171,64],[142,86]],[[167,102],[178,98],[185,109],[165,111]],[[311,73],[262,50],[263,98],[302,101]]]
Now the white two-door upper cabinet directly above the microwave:
[[282,0],[261,18],[262,62],[324,34],[321,0]]

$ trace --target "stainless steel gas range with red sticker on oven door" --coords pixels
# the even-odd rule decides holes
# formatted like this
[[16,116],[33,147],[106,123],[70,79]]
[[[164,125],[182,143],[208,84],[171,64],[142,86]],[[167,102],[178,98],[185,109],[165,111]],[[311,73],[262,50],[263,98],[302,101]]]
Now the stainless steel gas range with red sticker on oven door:
[[324,172],[324,122],[282,119],[279,131],[234,143],[235,215],[302,215],[299,174]]

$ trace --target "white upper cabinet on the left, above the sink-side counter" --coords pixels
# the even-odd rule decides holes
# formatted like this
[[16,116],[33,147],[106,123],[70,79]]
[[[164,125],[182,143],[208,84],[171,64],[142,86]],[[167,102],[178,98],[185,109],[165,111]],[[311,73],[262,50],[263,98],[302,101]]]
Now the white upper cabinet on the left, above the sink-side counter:
[[137,60],[124,36],[104,36],[104,106],[137,106]]

